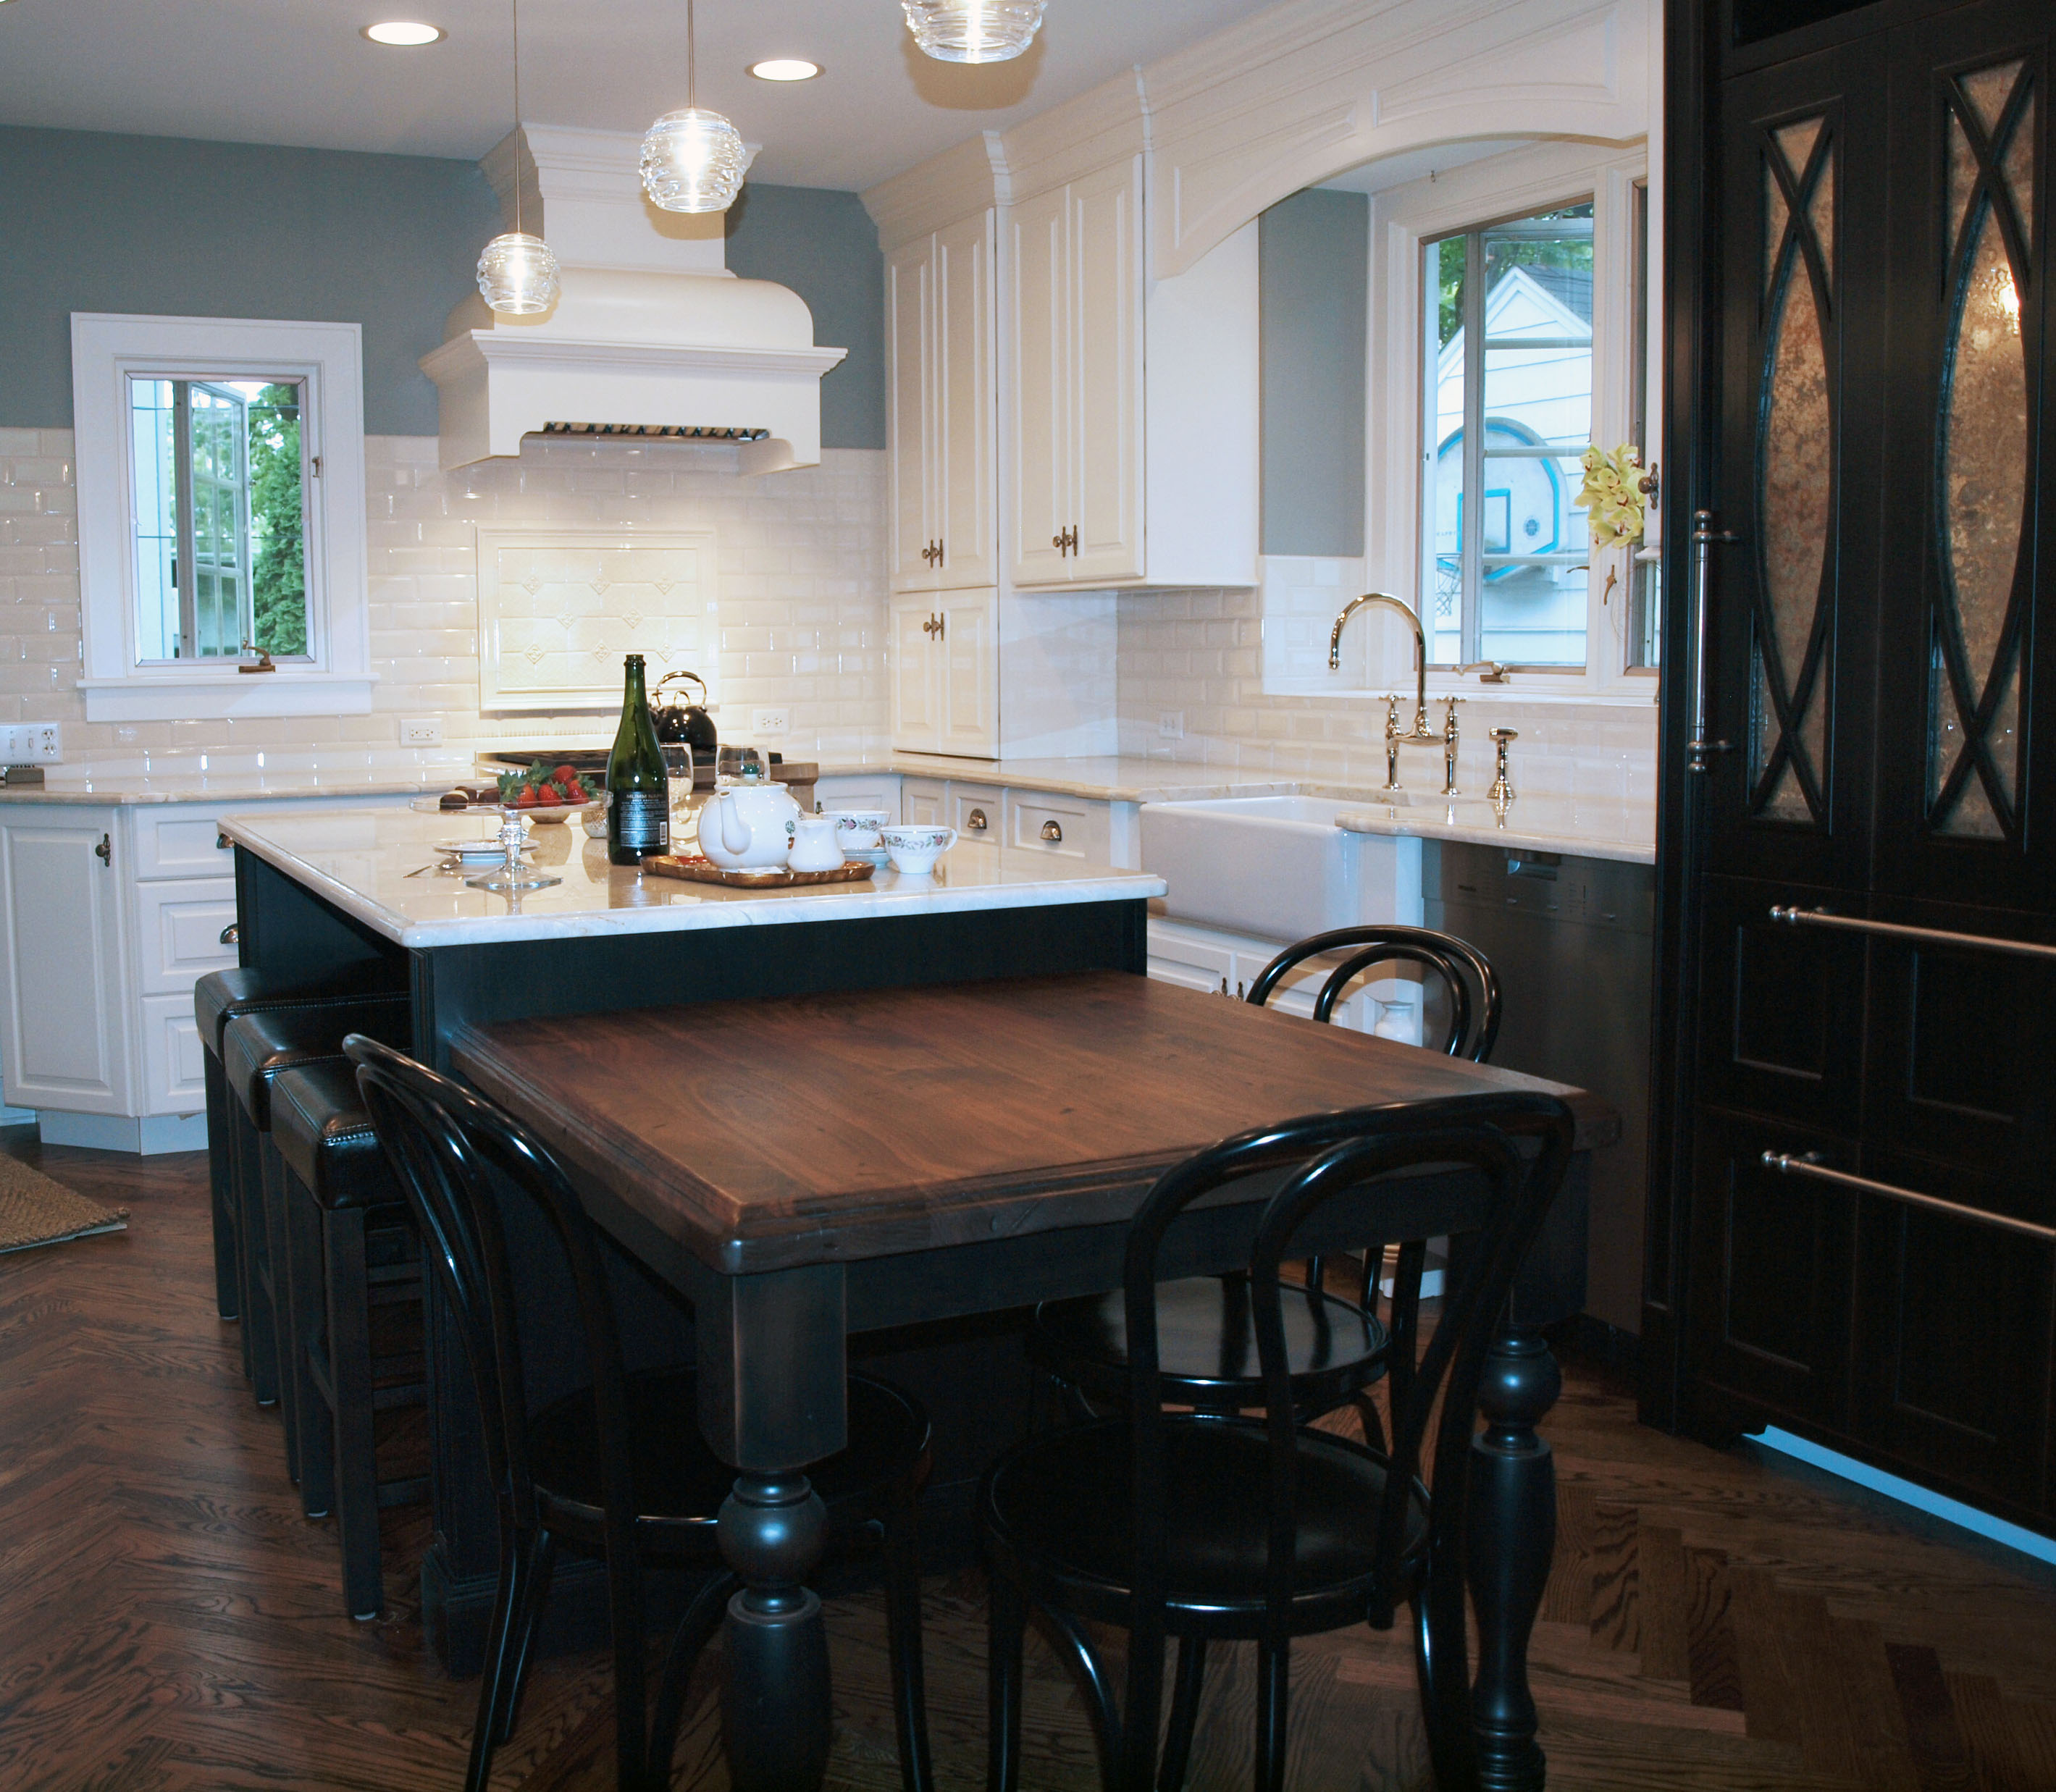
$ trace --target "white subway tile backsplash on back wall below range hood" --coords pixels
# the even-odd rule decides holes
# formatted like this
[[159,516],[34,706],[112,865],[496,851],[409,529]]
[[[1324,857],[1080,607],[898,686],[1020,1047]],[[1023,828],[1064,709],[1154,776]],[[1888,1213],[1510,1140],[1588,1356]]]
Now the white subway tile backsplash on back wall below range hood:
[[448,746],[607,740],[613,719],[479,713],[477,526],[713,530],[720,557],[722,732],[785,709],[767,740],[794,758],[888,750],[886,456],[831,448],[820,466],[738,479],[726,450],[530,442],[456,473],[432,436],[370,436],[368,715],[86,723],[80,676],[78,497],[70,430],[0,430],[0,719],[62,721],[68,760],[263,748],[382,748],[399,717],[440,715]]

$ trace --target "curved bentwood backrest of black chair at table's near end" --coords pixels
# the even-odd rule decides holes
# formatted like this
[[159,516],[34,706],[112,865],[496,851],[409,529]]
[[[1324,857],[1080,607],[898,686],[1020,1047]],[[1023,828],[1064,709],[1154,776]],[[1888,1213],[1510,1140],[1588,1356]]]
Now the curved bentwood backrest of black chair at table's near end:
[[[1517,1138],[1538,1141],[1528,1153]],[[1437,1393],[1443,1395],[1435,1439],[1435,1494],[1431,1502],[1429,1558],[1439,1574],[1462,1580],[1462,1525],[1470,1482],[1470,1436],[1478,1406],[1493,1328],[1505,1311],[1513,1276],[1534,1243],[1548,1204],[1571,1161],[1571,1110],[1554,1095],[1507,1091],[1456,1095],[1406,1108],[1351,1108],[1308,1114],[1277,1126],[1256,1128],[1201,1151],[1166,1171],[1149,1190],[1127,1239],[1123,1297],[1129,1342],[1129,1424],[1133,1476],[1133,1560],[1135,1611],[1129,1650],[1129,1712],[1153,1712],[1162,1700],[1166,1564],[1164,1428],[1158,1402],[1155,1282],[1158,1256],[1170,1225],[1203,1194],[1250,1175],[1289,1171],[1258,1223],[1250,1254],[1250,1293],[1256,1319],[1256,1348],[1264,1375],[1266,1426],[1271,1434],[1269,1508],[1269,1619],[1283,1640],[1291,1607],[1295,1550],[1297,1418],[1291,1399],[1291,1362],[1285,1346],[1283,1289],[1279,1266],[1293,1235],[1322,1204],[1361,1190],[1400,1169],[1437,1165],[1468,1167],[1484,1182],[1478,1219],[1462,1252],[1456,1286],[1443,1299],[1435,1338],[1417,1367],[1402,1410],[1392,1422],[1392,1455],[1384,1506],[1378,1513],[1373,1595],[1367,1617],[1392,1621],[1400,1558],[1406,1541],[1408,1500],[1419,1480],[1421,1447]],[[1378,1231],[1378,1221],[1367,1227]],[[1390,1231],[1392,1227],[1386,1227]],[[1447,1613],[1452,1601],[1433,1601]],[[1454,1601],[1462,1623],[1462,1601]],[[1464,1638],[1435,1636],[1437,1650],[1464,1658]],[[1443,1675],[1441,1681],[1452,1677]],[[1462,1677],[1456,1677],[1458,1691]],[[1147,1741],[1145,1741],[1147,1739]],[[1147,1724],[1125,1726],[1131,1749],[1125,1767],[1133,1784],[1145,1784],[1147,1763],[1139,1751],[1153,1751],[1155,1732]]]

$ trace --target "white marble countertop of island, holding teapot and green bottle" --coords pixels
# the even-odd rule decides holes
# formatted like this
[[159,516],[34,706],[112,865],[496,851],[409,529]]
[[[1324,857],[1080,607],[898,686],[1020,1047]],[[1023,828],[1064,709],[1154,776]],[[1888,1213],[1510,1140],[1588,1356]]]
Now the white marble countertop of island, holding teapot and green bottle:
[[[1047,908],[1071,902],[1141,902],[1164,880],[1047,853],[958,843],[933,873],[909,878],[880,865],[864,884],[730,890],[644,878],[607,863],[607,843],[574,824],[533,828],[535,863],[557,878],[545,890],[495,896],[436,869],[438,841],[487,836],[495,816],[413,810],[247,814],[222,832],[387,939],[426,949],[609,933],[683,933],[701,927],[775,927],[864,921],[884,914],[954,914],[972,908]],[[419,871],[419,867],[432,867]],[[419,871],[419,875],[407,875]]]

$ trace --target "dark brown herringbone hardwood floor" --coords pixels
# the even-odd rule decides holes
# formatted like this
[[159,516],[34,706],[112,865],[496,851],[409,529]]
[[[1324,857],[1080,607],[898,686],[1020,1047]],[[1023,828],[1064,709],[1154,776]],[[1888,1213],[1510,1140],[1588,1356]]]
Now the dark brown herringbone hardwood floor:
[[[0,1149],[125,1202],[127,1233],[0,1258],[0,1786],[10,1792],[450,1788],[473,1683],[426,1654],[419,1510],[387,1519],[391,1611],[343,1615],[278,1422],[214,1317],[206,1163]],[[1556,1788],[2050,1792],[2056,1574],[1739,1449],[1632,1422],[1567,1365],[1550,1436],[1563,1525],[1534,1644]],[[401,1441],[405,1447],[405,1439]],[[929,1582],[929,1726],[946,1788],[985,1767],[975,1574]],[[831,1603],[837,1788],[898,1786],[876,1599]],[[1084,1708],[1030,1644],[1030,1778],[1096,1784]],[[1221,1652],[1192,1786],[1246,1784],[1252,1663]],[[726,1788],[715,1663],[678,1788]],[[1293,1784],[1427,1784],[1400,1632],[1308,1642]],[[598,1656],[545,1660],[495,1786],[611,1784]]]

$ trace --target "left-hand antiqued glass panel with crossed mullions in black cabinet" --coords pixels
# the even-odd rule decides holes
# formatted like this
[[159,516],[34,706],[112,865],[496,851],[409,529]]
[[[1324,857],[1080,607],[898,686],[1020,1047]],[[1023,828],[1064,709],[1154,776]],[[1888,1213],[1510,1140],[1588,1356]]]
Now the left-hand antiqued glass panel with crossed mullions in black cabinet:
[[1828,378],[1834,203],[1820,193],[1834,185],[1836,154],[1832,140],[1822,142],[1822,129],[1824,119],[1783,125],[1764,146],[1770,279],[1758,413],[1762,598],[1750,693],[1750,806],[1813,826],[1826,820],[1826,582],[1834,497]]

